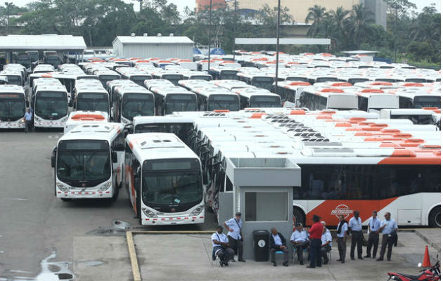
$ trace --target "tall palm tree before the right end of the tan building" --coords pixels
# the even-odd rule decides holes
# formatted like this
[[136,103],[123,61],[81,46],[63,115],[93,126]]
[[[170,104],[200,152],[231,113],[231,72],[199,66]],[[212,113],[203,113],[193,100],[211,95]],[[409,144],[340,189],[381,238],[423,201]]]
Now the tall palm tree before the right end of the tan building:
[[349,31],[357,48],[371,34],[373,21],[372,13],[363,4],[352,6],[352,12],[349,15]]

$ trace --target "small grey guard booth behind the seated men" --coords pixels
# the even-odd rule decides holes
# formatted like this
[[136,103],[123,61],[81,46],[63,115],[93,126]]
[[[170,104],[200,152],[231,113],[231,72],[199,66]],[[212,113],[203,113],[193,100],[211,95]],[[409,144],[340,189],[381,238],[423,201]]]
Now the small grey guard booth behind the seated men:
[[[252,232],[270,232],[273,227],[285,236],[292,253],[293,187],[301,185],[300,166],[289,158],[229,158],[226,184],[230,183],[232,192],[219,194],[219,223],[242,213],[243,257],[254,259]],[[269,250],[268,242],[266,247]]]

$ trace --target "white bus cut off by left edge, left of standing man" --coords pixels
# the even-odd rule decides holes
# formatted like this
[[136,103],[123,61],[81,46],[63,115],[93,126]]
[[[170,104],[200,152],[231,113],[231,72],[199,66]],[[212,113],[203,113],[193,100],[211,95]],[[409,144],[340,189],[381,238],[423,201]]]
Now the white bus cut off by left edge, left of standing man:
[[0,128],[25,129],[27,101],[22,86],[0,85]]

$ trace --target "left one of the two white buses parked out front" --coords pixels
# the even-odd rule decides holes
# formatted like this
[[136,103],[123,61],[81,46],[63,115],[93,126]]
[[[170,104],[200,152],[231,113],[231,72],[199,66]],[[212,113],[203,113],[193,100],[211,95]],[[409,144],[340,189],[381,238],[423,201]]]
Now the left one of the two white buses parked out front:
[[81,124],[63,135],[53,149],[56,197],[117,200],[124,164],[124,126]]

